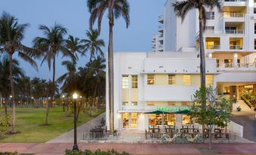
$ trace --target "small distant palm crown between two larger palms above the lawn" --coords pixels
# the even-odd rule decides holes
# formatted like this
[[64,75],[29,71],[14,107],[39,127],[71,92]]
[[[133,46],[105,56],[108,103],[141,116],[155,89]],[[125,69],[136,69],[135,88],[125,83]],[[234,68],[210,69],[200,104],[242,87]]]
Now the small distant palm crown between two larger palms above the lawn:
[[69,38],[66,39],[66,48],[76,56],[76,59],[79,59],[77,53],[82,53],[82,44],[79,41],[79,38],[74,38],[72,35],[69,35]]

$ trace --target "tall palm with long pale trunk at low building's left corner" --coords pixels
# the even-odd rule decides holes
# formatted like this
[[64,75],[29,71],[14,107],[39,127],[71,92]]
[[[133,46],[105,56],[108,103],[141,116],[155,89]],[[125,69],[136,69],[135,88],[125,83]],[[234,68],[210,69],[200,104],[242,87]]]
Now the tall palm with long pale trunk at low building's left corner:
[[108,47],[108,83],[109,83],[109,127],[110,131],[114,131],[114,108],[113,108],[113,79],[114,79],[114,68],[113,68],[113,26],[114,19],[118,19],[122,16],[125,19],[126,27],[130,24],[129,10],[130,6],[128,0],[88,0],[88,10],[91,13],[90,26],[92,27],[97,20],[98,31],[100,33],[100,26],[103,14],[108,10],[109,18],[109,47]]

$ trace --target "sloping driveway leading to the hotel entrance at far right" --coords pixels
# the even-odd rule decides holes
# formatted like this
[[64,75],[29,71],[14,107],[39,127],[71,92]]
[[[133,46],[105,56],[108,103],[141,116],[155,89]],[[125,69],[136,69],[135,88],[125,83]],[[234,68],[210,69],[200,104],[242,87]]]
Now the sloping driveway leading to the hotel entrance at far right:
[[231,117],[231,120],[244,127],[244,138],[256,141],[256,112],[251,111],[251,109],[245,105],[242,100],[239,100],[238,102],[242,110],[233,111],[233,117]]

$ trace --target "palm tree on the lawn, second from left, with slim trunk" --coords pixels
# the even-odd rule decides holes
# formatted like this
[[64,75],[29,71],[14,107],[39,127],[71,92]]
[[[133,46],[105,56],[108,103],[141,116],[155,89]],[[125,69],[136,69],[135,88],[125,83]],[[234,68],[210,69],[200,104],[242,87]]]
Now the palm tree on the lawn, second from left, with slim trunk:
[[[47,61],[48,68],[50,71],[51,71],[51,62],[52,62],[53,75],[52,75],[52,82],[51,82],[52,84],[51,92],[53,93],[51,93],[51,95],[54,96],[54,90],[56,87],[56,84],[55,84],[56,56],[58,56],[59,53],[61,52],[63,53],[63,56],[70,56],[72,59],[76,59],[76,57],[72,54],[71,51],[69,51],[65,47],[66,41],[63,37],[64,35],[66,35],[66,29],[63,28],[63,26],[60,26],[55,23],[53,27],[49,28],[48,26],[41,25],[39,26],[39,29],[42,30],[42,32],[44,33],[45,38],[36,37],[33,40],[33,43],[35,48],[43,51],[42,63]],[[47,110],[46,110],[45,125],[48,125],[49,108],[50,108],[50,105],[48,103]]]

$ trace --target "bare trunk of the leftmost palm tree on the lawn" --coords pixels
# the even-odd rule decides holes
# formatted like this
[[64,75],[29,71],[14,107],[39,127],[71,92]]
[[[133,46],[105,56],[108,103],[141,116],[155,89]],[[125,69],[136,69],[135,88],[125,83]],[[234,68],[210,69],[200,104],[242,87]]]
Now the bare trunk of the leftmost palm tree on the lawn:
[[16,132],[16,110],[15,110],[15,97],[14,97],[14,78],[12,76],[12,52],[9,53],[9,61],[10,61],[10,84],[11,84],[11,108],[12,108],[12,128],[11,132],[15,133]]

